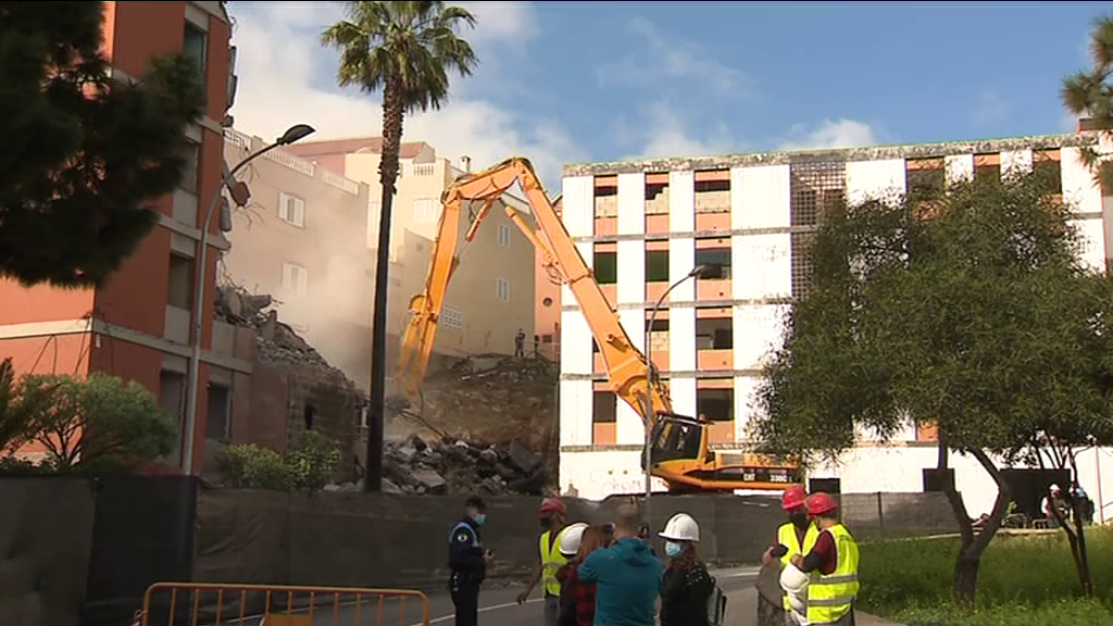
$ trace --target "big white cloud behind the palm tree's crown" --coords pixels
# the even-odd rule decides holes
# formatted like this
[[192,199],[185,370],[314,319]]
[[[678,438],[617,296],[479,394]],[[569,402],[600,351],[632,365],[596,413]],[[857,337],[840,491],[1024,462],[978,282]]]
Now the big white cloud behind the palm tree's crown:
[[[465,4],[465,3],[462,3]],[[539,32],[528,2],[483,2],[469,7],[479,20],[465,33],[480,55],[471,79],[455,79],[453,98],[440,111],[407,117],[404,140],[426,141],[450,159],[467,155],[485,167],[512,155],[529,157],[546,180],[560,177],[567,160],[582,159],[555,121],[522,124],[512,110],[471,97],[469,84],[492,71],[498,50],[523,50]],[[377,136],[382,130],[378,94],[335,87],[337,55],[322,48],[322,30],[343,17],[337,2],[235,2],[233,42],[238,47],[239,87],[232,113],[236,128],[265,138],[305,123],[314,139]],[[498,70],[495,70],[498,71]]]

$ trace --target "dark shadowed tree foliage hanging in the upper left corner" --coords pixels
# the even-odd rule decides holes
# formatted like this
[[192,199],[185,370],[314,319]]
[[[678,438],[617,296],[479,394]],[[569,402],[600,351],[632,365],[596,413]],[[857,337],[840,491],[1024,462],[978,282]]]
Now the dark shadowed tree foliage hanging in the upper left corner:
[[0,277],[102,282],[185,172],[197,68],[160,57],[141,81],[114,81],[104,4],[0,2]]

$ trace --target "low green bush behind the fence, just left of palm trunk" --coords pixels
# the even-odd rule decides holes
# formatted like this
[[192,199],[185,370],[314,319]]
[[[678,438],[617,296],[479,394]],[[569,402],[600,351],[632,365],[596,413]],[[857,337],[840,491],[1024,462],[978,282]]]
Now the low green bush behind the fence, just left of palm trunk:
[[248,489],[317,491],[328,485],[341,461],[339,448],[316,431],[306,431],[285,456],[254,443],[228,446],[217,456],[225,485]]

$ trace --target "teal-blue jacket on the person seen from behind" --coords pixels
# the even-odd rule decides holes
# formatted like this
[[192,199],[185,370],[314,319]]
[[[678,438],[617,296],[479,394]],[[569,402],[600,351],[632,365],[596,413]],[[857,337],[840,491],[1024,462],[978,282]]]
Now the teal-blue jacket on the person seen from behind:
[[577,574],[597,584],[594,626],[654,626],[663,570],[649,544],[636,537],[592,552]]

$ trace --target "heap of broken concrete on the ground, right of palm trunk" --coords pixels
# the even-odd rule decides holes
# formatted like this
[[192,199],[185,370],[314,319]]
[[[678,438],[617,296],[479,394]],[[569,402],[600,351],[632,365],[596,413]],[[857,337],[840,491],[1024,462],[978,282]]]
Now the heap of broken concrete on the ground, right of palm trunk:
[[414,434],[387,443],[383,453],[385,493],[541,495],[545,478],[541,457],[516,442],[499,449],[483,441],[426,441]]

